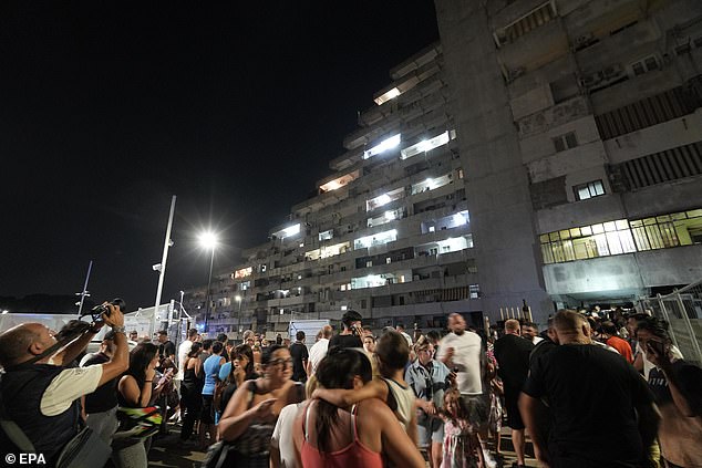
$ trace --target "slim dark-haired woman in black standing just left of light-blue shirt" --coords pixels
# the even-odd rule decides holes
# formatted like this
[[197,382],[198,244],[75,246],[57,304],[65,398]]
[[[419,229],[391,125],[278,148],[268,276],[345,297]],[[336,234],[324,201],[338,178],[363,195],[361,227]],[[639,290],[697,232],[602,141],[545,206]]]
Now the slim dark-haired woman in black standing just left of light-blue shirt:
[[199,358],[203,351],[202,343],[193,343],[190,352],[187,354],[183,366],[183,382],[180,383],[180,409],[183,410],[183,427],[180,428],[180,440],[189,440],[193,435],[195,422],[199,419],[203,407],[203,362]]

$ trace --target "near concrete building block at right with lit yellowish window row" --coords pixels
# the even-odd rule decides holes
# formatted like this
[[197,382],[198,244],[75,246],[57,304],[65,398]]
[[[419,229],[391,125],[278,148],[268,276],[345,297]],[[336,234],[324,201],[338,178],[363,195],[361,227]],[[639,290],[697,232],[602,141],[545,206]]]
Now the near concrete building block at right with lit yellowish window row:
[[435,6],[484,305],[700,280],[702,2]]

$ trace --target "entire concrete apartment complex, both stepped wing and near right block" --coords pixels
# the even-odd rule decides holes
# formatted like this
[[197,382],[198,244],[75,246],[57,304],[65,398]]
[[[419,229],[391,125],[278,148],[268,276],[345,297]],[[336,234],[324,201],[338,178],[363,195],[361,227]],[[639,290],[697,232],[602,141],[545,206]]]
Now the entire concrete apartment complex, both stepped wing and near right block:
[[391,71],[318,195],[216,279],[211,330],[345,309],[479,326],[524,302],[544,323],[702,278],[702,1],[435,6],[441,44]]

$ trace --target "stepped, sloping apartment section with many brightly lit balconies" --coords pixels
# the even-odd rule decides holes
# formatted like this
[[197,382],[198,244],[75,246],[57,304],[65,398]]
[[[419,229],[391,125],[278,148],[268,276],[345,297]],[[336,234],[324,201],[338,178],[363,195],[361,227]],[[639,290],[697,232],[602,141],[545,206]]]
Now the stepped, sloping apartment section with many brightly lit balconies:
[[[292,319],[338,320],[348,309],[374,329],[404,322],[426,331],[454,311],[482,323],[441,46],[410,58],[391,79],[359,115],[317,195],[213,280],[210,331],[283,333]],[[204,290],[188,295],[190,309],[204,309]]]

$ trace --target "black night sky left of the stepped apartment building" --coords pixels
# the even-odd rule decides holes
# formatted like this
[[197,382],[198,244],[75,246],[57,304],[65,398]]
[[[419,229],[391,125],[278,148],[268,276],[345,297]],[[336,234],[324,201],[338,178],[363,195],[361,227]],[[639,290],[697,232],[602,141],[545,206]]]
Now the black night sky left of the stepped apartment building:
[[[154,304],[267,239],[329,175],[431,0],[0,2],[0,295]],[[255,3],[251,6],[250,3]]]

